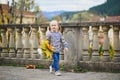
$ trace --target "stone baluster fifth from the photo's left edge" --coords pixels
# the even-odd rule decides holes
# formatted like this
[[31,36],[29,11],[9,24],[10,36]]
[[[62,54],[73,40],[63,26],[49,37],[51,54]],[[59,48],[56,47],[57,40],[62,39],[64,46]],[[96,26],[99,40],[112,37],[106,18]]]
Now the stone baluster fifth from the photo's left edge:
[[31,38],[32,38],[32,58],[33,59],[38,59],[39,55],[38,55],[38,28],[37,27],[33,27],[32,28],[32,34],[31,34]]

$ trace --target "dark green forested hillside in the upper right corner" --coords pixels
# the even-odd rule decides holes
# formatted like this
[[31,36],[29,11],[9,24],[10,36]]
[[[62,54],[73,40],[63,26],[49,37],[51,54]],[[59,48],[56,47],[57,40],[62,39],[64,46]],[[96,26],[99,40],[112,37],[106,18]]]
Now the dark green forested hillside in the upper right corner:
[[120,15],[120,0],[107,0],[104,4],[90,8],[89,11],[100,15],[118,16]]

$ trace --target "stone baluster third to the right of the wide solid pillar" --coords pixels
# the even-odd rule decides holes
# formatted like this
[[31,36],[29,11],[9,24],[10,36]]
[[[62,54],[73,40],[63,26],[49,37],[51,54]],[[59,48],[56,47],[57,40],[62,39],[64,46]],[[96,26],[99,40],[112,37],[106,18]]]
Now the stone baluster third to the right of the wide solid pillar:
[[103,37],[103,57],[102,57],[102,61],[110,61],[110,56],[109,56],[109,38],[108,38],[108,30],[109,27],[108,26],[103,26],[103,33],[104,33],[104,37]]

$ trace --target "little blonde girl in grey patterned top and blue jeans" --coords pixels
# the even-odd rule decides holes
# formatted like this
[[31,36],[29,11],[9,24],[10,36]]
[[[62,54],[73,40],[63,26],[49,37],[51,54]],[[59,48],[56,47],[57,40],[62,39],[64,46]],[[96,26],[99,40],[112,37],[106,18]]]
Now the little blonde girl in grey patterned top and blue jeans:
[[58,26],[58,22],[53,20],[49,24],[49,31],[46,33],[46,39],[49,41],[49,44],[54,48],[54,52],[52,55],[53,62],[51,64],[50,72],[52,72],[52,68],[55,70],[55,75],[60,76],[59,72],[59,55],[62,49],[62,43],[64,44],[64,48],[68,50],[67,42],[64,40],[62,34],[59,31],[60,27]]

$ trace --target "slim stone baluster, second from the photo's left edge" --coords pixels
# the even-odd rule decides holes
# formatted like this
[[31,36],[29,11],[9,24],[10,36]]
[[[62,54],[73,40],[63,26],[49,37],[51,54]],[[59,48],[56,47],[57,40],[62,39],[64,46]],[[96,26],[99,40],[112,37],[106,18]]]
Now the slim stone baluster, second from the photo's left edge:
[[9,36],[9,57],[15,57],[15,35],[14,29],[8,28]]

